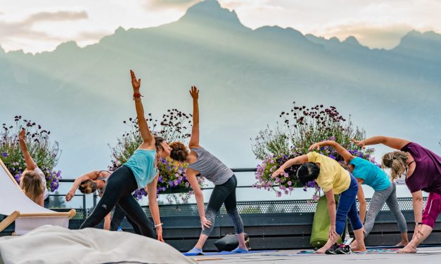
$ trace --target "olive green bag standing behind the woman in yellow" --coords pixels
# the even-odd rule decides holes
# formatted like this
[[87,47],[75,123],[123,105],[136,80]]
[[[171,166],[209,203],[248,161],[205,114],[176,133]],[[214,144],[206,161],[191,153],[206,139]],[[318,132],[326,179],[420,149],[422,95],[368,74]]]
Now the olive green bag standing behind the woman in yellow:
[[[335,195],[335,204],[337,203],[338,195]],[[326,195],[324,195],[320,197],[319,202],[317,202],[317,208],[314,213],[311,239],[309,239],[312,248],[321,248],[328,242],[329,227],[331,227],[331,223],[329,221],[328,201]],[[338,243],[341,243],[341,239]]]

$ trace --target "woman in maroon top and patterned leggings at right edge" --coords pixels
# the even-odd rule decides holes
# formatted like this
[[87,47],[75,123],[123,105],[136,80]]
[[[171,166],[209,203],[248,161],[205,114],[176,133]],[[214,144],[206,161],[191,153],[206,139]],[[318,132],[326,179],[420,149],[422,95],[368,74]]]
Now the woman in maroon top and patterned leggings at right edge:
[[[441,157],[421,145],[400,138],[375,136],[352,141],[361,147],[383,144],[400,150],[386,153],[381,163],[390,168],[392,178],[406,174],[406,185],[414,200],[415,230],[411,242],[399,252],[416,253],[416,247],[430,235],[441,212]],[[421,190],[429,192],[424,211]]]

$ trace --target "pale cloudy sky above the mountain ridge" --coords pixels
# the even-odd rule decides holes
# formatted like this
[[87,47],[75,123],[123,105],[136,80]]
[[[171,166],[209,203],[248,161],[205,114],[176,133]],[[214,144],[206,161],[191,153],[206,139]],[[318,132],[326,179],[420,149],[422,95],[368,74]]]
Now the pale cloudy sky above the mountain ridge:
[[[0,0],[0,45],[6,51],[52,51],[75,40],[96,43],[117,27],[153,27],[178,20],[199,0]],[[303,34],[353,35],[371,48],[393,48],[411,29],[441,33],[439,0],[219,0],[253,29],[293,27]]]

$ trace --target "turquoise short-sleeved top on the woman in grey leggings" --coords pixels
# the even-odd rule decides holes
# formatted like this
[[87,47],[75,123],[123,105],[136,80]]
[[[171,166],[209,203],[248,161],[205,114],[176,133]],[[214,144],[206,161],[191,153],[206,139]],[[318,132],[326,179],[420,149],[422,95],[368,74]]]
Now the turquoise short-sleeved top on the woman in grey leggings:
[[352,173],[354,177],[363,179],[363,184],[371,186],[373,190],[386,190],[390,186],[390,180],[386,173],[371,161],[356,157],[351,159],[349,164],[354,165]]

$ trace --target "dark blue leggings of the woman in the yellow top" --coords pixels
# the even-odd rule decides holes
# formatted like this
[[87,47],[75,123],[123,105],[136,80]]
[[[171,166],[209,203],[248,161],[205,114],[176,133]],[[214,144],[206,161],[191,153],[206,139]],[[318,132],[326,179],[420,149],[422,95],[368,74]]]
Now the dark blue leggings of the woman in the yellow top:
[[358,183],[351,173],[350,177],[351,183],[349,188],[340,194],[337,206],[337,216],[335,217],[335,232],[340,236],[343,234],[343,230],[345,230],[347,217],[349,217],[351,222],[352,230],[359,230],[363,227],[362,221],[360,221],[358,215],[357,202],[355,201],[357,198]]

